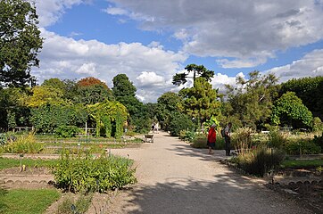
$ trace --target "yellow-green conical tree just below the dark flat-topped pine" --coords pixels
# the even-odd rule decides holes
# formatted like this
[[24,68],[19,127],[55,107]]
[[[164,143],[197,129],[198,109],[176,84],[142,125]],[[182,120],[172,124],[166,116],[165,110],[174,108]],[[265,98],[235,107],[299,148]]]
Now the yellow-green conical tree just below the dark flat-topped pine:
[[205,78],[196,78],[195,86],[183,88],[178,94],[183,98],[179,109],[192,119],[197,119],[200,126],[212,115],[220,113],[217,92]]

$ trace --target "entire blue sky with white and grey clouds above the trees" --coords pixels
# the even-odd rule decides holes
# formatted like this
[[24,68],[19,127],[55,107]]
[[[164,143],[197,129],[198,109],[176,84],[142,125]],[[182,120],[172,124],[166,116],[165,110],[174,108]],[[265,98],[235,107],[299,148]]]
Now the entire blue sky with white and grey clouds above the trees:
[[[215,72],[225,92],[253,70],[279,82],[323,76],[323,0],[35,0],[45,38],[38,84],[126,74],[137,98],[178,92],[188,64]],[[187,83],[191,84],[191,82]]]

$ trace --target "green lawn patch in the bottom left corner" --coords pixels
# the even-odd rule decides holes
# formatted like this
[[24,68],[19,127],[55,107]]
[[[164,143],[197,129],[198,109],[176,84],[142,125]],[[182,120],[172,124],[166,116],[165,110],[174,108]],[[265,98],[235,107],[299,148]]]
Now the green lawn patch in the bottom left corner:
[[53,202],[61,197],[54,189],[4,190],[0,189],[0,213],[37,214],[44,213]]

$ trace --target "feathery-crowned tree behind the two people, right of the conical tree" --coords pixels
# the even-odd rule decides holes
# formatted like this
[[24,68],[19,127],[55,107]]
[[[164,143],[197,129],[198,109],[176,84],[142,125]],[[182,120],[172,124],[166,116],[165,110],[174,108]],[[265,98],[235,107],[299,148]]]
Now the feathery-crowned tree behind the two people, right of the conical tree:
[[261,76],[255,70],[249,73],[249,79],[236,78],[236,86],[227,85],[229,112],[243,126],[262,128],[269,122],[272,102],[277,97],[277,78],[273,74]]

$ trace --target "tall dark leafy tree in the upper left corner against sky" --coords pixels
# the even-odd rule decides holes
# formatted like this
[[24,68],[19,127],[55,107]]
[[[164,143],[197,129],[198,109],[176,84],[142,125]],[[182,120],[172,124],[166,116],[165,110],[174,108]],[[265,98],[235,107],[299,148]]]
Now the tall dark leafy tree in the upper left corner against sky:
[[0,0],[0,84],[35,84],[30,69],[38,66],[43,44],[35,5],[24,0]]

